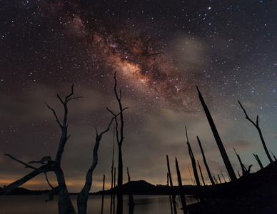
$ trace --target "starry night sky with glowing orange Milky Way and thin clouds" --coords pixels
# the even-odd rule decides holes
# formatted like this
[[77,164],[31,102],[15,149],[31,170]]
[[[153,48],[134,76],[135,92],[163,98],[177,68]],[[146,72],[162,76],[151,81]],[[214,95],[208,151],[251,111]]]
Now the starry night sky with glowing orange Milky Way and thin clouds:
[[[196,4],[197,2],[197,4]],[[268,165],[256,128],[277,155],[277,3],[276,1],[4,1],[0,55],[0,185],[31,170],[26,163],[56,155],[62,118],[69,103],[69,134],[62,166],[69,191],[79,191],[91,165],[95,129],[104,131],[114,96],[114,72],[124,111],[124,183],[166,184],[166,154],[176,185],[174,158],[183,184],[191,184],[188,138],[204,170],[196,136],[201,139],[211,173],[226,172],[196,86],[211,111],[234,170],[233,148],[251,171],[259,169],[253,153]],[[111,180],[113,128],[99,148],[91,191]],[[116,148],[116,147],[115,147]],[[117,155],[117,150],[116,150]],[[115,156],[115,163],[117,163]],[[226,174],[225,174],[226,175]],[[50,175],[55,185],[56,180]],[[227,178],[227,175],[226,175]],[[226,179],[228,180],[228,179]],[[109,184],[106,183],[107,188]],[[44,175],[24,185],[49,188]]]

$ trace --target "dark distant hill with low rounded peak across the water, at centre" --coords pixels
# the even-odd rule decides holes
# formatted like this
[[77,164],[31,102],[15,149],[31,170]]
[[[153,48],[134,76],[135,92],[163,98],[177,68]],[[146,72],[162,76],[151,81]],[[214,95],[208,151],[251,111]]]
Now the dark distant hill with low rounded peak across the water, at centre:
[[[193,190],[195,186],[193,185],[183,185],[183,189],[185,193],[188,195],[193,194]],[[174,186],[175,193],[178,193],[178,187]],[[114,188],[116,193],[117,188]],[[123,185],[123,193],[128,194],[129,191],[133,195],[167,195],[168,194],[168,186],[167,185],[153,185],[151,183],[146,182],[145,180],[135,180],[130,183],[124,183]],[[102,194],[102,191],[96,192],[94,194]],[[110,190],[104,190],[104,194],[111,194]]]

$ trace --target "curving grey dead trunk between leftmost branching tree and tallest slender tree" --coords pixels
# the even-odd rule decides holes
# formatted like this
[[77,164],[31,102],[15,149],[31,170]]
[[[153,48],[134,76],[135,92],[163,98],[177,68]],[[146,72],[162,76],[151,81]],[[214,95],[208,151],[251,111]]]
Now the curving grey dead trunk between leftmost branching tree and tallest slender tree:
[[[116,118],[116,116],[114,118]],[[106,128],[106,130],[102,131],[100,134],[98,133],[97,128],[95,128],[96,138],[95,138],[94,155],[93,155],[94,160],[92,161],[91,167],[89,168],[89,170],[86,173],[86,182],[84,184],[84,187],[82,188],[81,192],[79,193],[79,195],[77,197],[79,214],[86,214],[89,190],[91,190],[91,184],[92,184],[92,173],[94,173],[94,169],[96,168],[96,165],[98,163],[98,149],[99,149],[100,141],[101,141],[104,133],[109,131],[109,129],[111,127],[111,123],[114,121],[114,118],[111,118],[108,128]]]

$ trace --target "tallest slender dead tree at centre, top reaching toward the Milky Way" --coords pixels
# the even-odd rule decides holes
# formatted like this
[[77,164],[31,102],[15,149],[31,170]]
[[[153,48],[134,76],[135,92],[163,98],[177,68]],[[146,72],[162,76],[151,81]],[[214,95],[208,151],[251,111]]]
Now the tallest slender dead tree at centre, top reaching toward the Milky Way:
[[[122,107],[121,104],[121,89],[119,89],[119,93],[116,90],[117,81],[116,81],[116,72],[114,73],[114,93],[116,95],[116,100],[119,103],[119,120],[116,117],[116,114],[113,113],[109,108],[107,108],[114,116],[116,121],[116,141],[119,147],[119,166],[118,166],[118,175],[117,175],[117,208],[116,213],[123,213],[123,161],[122,161],[122,143],[124,140],[123,131],[124,131],[124,119],[123,119],[123,111],[126,108]],[[120,123],[120,127],[119,127]]]

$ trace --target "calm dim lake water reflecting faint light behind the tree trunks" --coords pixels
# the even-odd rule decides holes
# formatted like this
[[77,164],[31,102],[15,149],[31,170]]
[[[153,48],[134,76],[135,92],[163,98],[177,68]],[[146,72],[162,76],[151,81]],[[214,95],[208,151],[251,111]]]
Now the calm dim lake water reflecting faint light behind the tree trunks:
[[[45,195],[1,195],[0,196],[0,213],[1,214],[58,214],[58,200],[55,195],[53,201],[44,202],[47,198]],[[72,203],[77,212],[76,199],[77,195],[71,195]],[[88,212],[101,213],[101,195],[89,195]],[[104,214],[110,213],[110,195],[104,198]],[[171,208],[168,195],[134,195],[135,208],[134,214],[170,214]],[[194,203],[195,200],[187,198],[188,203]],[[177,199],[178,208],[180,208]],[[128,198],[124,195],[124,214],[129,213]],[[181,210],[178,209],[178,213]]]

